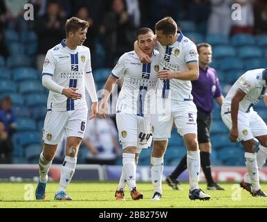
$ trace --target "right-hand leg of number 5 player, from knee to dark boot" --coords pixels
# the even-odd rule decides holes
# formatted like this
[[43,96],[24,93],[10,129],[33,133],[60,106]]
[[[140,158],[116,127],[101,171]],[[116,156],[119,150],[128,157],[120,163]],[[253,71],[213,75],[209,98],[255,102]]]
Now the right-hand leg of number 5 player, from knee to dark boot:
[[187,169],[190,182],[190,200],[210,200],[210,195],[199,189],[200,154],[196,134],[187,133],[183,136],[187,147]]

